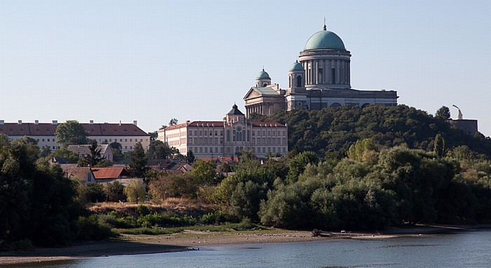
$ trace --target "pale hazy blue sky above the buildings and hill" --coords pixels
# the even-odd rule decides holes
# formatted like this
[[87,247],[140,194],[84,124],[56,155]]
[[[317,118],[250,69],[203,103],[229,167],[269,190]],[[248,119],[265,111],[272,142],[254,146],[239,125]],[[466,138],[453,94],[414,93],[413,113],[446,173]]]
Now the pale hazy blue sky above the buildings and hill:
[[220,121],[262,67],[288,87],[309,36],[351,51],[351,86],[455,104],[491,135],[491,1],[0,1],[0,119]]

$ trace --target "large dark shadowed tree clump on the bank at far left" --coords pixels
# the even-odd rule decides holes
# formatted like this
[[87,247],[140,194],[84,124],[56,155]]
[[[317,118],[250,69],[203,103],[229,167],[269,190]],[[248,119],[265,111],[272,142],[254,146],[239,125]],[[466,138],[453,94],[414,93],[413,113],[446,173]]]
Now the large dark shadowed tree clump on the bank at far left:
[[75,185],[26,140],[0,135],[0,239],[64,246],[79,232]]

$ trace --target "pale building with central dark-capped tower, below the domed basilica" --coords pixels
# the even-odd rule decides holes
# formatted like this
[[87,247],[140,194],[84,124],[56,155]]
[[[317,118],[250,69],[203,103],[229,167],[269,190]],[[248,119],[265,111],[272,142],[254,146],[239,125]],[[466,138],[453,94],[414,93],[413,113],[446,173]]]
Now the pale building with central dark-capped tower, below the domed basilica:
[[193,152],[197,158],[229,157],[252,150],[257,157],[288,152],[288,128],[277,122],[254,122],[234,105],[224,121],[187,121],[158,132],[158,140]]

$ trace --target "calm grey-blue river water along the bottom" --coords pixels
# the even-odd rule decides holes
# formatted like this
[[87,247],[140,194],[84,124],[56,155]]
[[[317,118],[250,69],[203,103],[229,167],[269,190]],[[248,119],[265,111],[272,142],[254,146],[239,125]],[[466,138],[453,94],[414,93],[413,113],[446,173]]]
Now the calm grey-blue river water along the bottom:
[[491,230],[396,239],[212,246],[22,267],[491,267]]

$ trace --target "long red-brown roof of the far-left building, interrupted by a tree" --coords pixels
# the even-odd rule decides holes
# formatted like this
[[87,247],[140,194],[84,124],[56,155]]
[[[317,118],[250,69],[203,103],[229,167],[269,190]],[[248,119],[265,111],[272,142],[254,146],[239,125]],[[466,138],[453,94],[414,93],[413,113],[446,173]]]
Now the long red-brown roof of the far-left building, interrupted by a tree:
[[[62,125],[62,123],[58,124]],[[55,135],[53,123],[4,123],[0,124],[0,133],[12,136]],[[141,128],[133,123],[82,123],[89,136],[148,136]]]

